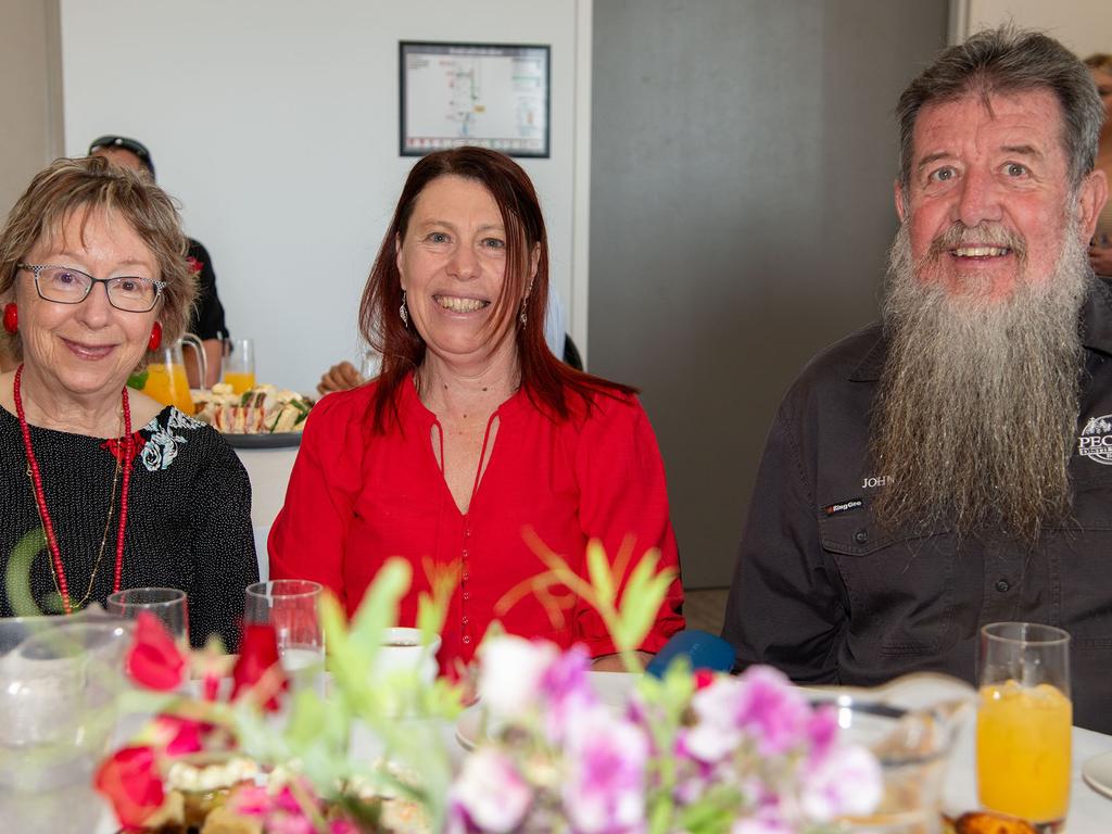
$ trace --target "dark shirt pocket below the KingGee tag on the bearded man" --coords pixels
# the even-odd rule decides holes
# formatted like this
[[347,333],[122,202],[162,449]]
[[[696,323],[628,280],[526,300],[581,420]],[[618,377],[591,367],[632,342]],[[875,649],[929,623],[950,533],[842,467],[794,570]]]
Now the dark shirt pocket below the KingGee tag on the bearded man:
[[818,530],[850,599],[852,651],[906,656],[943,647],[955,608],[951,534],[891,534],[865,514],[820,518]]

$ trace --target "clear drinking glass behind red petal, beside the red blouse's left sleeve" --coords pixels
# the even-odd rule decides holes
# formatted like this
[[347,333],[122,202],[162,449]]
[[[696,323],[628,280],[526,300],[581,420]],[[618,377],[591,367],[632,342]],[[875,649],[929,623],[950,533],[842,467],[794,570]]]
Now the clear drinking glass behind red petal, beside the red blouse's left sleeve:
[[325,636],[317,605],[320,584],[309,579],[271,579],[247,586],[244,620],[270,624],[278,642],[281,667],[297,687],[320,689],[325,668]]

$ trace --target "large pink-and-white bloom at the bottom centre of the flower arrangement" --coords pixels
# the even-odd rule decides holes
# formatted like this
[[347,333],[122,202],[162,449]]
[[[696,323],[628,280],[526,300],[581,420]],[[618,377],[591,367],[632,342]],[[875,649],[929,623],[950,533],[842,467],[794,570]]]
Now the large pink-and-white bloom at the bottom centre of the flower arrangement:
[[576,716],[565,749],[570,772],[563,787],[564,811],[575,831],[643,831],[648,758],[644,732],[595,707]]

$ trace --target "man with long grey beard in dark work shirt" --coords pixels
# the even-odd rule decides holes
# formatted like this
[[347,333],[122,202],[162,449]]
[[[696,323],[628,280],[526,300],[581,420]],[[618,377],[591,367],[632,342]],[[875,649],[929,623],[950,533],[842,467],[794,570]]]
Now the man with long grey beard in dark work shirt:
[[1073,638],[1075,723],[1112,732],[1112,291],[1085,67],[1000,29],[897,109],[880,324],[815,358],[768,436],[723,635],[806,684],[974,679],[980,627]]

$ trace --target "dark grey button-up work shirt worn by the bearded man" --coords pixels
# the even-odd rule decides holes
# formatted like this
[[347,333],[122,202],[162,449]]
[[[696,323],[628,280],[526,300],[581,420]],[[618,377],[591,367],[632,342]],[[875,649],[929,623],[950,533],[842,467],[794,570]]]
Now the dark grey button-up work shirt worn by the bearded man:
[[[1085,375],[1070,460],[1073,519],[1030,549],[946,529],[880,532],[866,458],[885,342],[873,325],[817,356],[768,435],[723,636],[738,664],[806,684],[873,686],[917,671],[973,681],[982,625],[1070,632],[1074,723],[1112,733],[1112,291],[1082,312]],[[1022,455],[1022,449],[1015,454]]]

